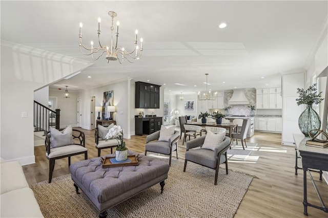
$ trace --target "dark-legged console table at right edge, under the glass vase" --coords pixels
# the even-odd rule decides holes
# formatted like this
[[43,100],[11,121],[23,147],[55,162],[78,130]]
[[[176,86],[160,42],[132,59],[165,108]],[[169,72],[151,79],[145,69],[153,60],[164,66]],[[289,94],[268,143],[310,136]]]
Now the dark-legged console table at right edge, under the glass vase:
[[[310,138],[304,137],[301,134],[293,134],[293,138],[295,141],[295,149],[296,149],[296,166],[295,166],[295,174],[297,175],[297,152],[299,152],[302,158],[302,169],[303,169],[303,205],[304,205],[304,215],[308,215],[308,206],[314,207],[324,212],[328,212],[328,207],[326,207],[322,201],[319,190],[312,178],[311,169],[317,169],[320,173],[320,180],[322,176],[322,170],[328,171],[328,148],[318,148],[306,146],[305,143]],[[307,190],[306,190],[306,172],[309,173],[309,177],[314,186],[314,189],[318,195],[319,201],[321,203],[321,207],[317,205],[310,204],[307,199]]]

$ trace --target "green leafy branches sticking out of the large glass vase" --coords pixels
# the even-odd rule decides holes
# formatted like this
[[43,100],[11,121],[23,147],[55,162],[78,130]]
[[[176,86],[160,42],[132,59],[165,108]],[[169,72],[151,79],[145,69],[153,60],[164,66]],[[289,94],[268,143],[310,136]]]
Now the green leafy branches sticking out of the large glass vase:
[[321,98],[322,92],[317,93],[317,83],[310,85],[307,90],[297,88],[299,98],[296,98],[297,105],[301,104],[319,104],[324,98]]

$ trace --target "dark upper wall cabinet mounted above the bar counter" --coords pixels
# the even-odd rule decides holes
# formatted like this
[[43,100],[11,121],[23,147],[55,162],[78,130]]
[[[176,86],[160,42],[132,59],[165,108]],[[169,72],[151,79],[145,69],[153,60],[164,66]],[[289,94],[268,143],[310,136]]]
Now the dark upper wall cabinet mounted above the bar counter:
[[135,82],[135,108],[159,108],[159,87],[145,82]]

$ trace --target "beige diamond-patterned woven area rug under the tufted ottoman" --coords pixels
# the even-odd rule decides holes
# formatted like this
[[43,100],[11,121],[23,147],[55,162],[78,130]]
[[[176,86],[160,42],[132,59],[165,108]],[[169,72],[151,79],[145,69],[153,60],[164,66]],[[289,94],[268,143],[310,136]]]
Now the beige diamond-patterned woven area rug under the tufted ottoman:
[[[159,184],[154,185],[108,209],[108,217],[233,217],[253,177],[232,170],[226,175],[226,170],[220,168],[215,186],[215,170],[188,162],[183,172],[183,163],[172,159],[162,194]],[[31,188],[45,217],[99,215],[82,191],[76,194],[70,175]]]

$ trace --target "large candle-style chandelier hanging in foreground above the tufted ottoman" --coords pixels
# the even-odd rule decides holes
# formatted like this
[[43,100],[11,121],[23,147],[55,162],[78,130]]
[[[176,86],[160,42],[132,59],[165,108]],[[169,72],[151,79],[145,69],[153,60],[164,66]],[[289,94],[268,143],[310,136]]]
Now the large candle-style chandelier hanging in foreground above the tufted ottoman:
[[[139,59],[139,57],[142,54],[142,38],[140,38],[140,48],[137,45],[138,30],[135,30],[134,49],[132,51],[128,52],[123,47],[122,48],[117,47],[119,21],[117,21],[117,23],[116,23],[116,33],[115,33],[116,41],[114,42],[113,38],[115,36],[113,37],[113,30],[114,30],[113,25],[114,25],[114,17],[116,17],[117,14],[114,11],[109,11],[108,14],[112,18],[111,37],[110,37],[111,45],[102,46],[100,43],[101,18],[98,17],[98,30],[97,30],[98,42],[99,42],[98,47],[93,47],[93,41],[91,41],[91,48],[87,48],[86,46],[83,45],[83,43],[82,43],[83,24],[80,23],[80,31],[79,31],[78,37],[79,37],[79,47],[80,47],[81,53],[83,53],[84,55],[91,55],[93,60],[98,60],[99,57],[103,56],[103,54],[106,53],[106,59],[107,59],[108,63],[110,60],[118,60],[119,63],[123,63],[124,59],[127,59],[130,63],[135,62],[137,59]],[[87,53],[85,53],[82,48],[84,48],[84,50],[86,50]],[[138,53],[139,49],[140,49],[140,52]]]

